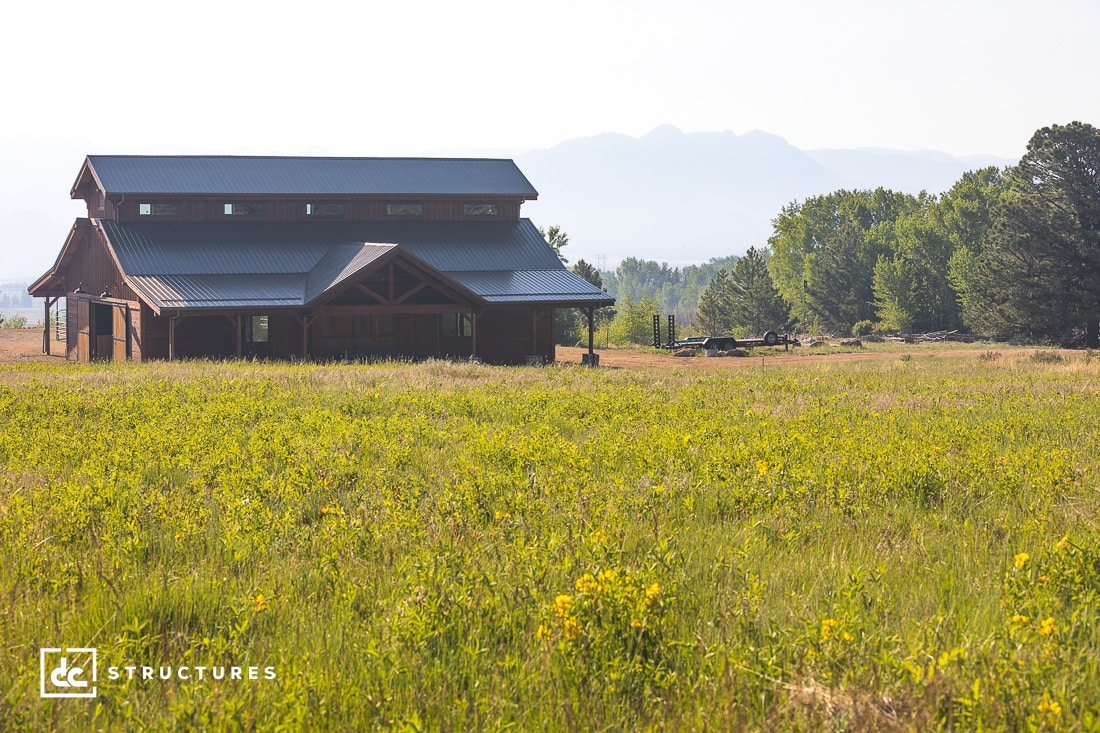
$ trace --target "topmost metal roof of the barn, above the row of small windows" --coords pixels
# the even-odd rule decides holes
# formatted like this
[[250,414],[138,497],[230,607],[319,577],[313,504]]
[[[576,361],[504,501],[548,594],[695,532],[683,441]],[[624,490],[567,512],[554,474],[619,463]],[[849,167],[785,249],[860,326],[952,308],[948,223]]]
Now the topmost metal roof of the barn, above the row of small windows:
[[521,196],[538,192],[509,160],[89,155],[107,194]]

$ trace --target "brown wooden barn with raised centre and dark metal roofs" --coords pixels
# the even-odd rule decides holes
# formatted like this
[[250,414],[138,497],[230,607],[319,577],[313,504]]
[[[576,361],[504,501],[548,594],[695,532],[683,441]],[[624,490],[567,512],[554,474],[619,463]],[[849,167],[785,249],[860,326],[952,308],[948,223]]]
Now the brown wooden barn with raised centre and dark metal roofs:
[[556,309],[591,344],[614,304],[520,216],[508,160],[89,155],[72,196],[88,216],[29,291],[64,299],[76,361],[550,362]]

